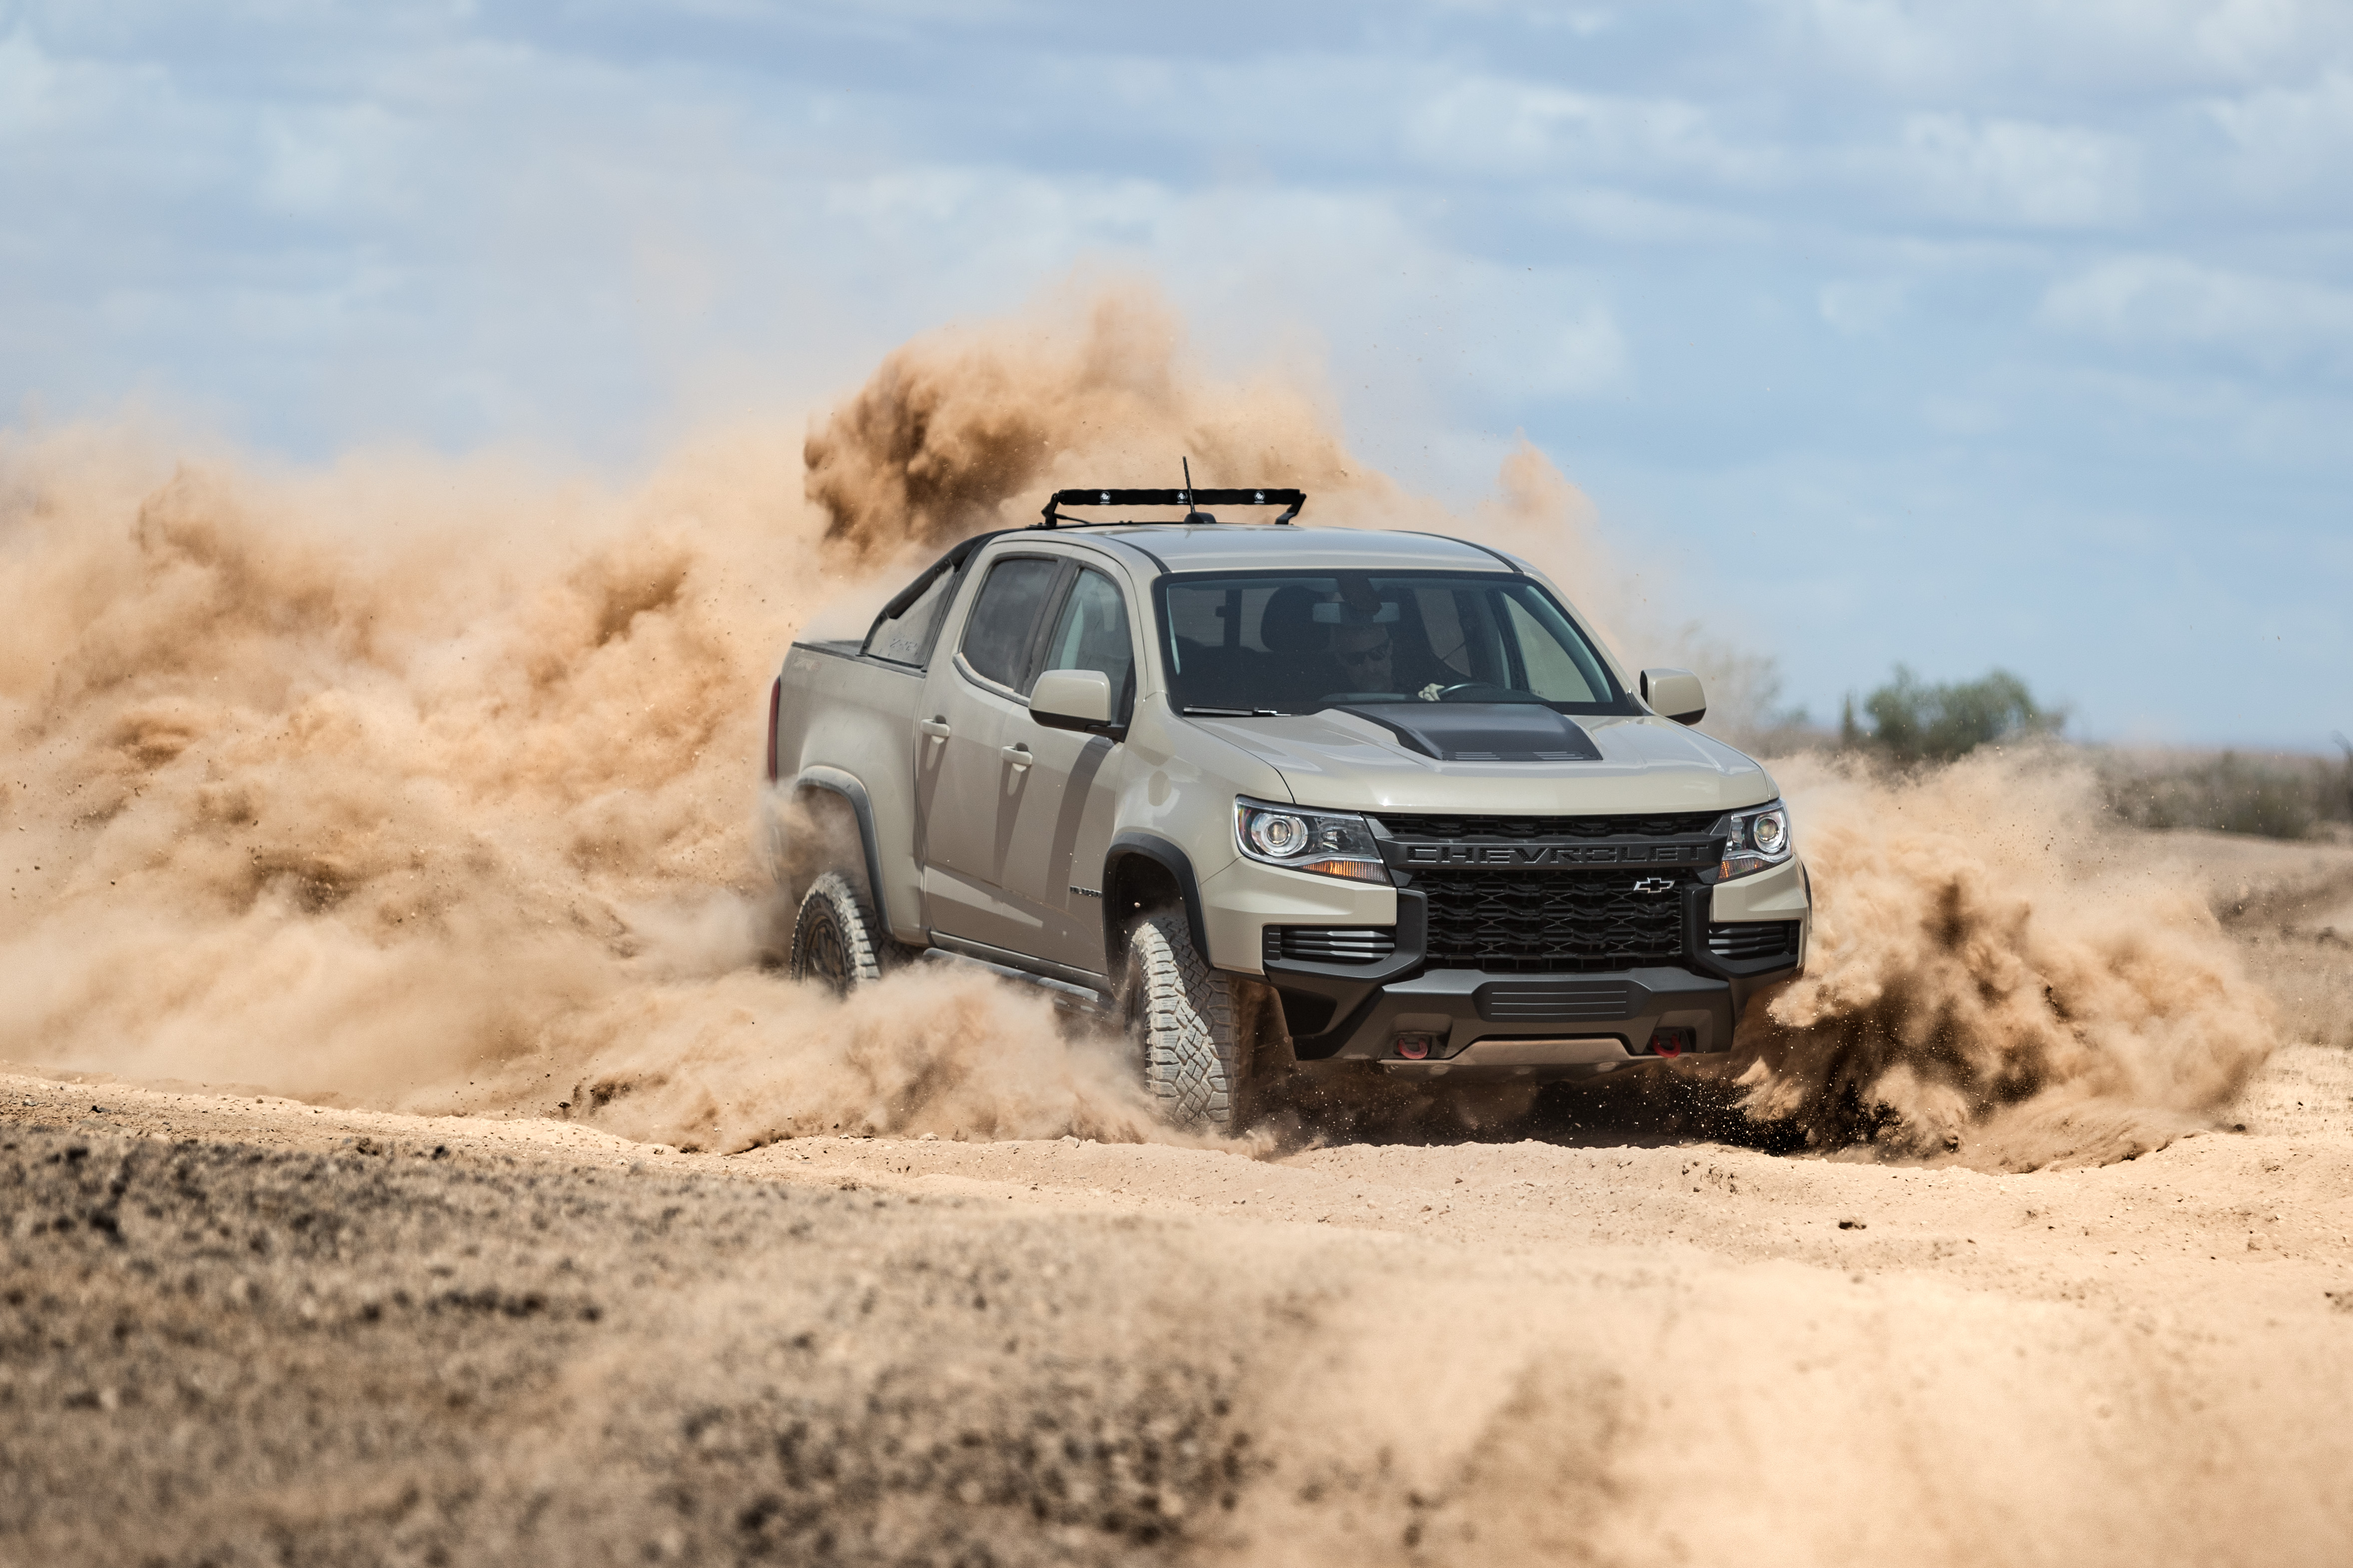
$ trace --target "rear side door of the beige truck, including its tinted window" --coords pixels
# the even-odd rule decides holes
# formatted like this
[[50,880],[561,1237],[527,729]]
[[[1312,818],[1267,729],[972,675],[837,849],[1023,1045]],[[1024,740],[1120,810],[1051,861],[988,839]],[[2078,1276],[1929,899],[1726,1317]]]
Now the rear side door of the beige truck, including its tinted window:
[[915,719],[915,790],[925,924],[936,936],[1038,952],[1040,922],[1007,898],[1005,858],[1035,766],[1038,724],[1021,693],[1073,571],[1052,555],[1000,555],[958,646],[932,658]]

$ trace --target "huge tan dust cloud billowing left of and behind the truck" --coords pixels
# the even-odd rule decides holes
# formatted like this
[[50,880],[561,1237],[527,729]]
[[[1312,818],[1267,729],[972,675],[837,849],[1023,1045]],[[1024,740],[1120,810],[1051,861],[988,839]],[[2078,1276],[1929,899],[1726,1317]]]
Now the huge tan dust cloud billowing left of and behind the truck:
[[1024,522],[1040,475],[1148,451],[1388,494],[1308,393],[1212,383],[1179,339],[1111,294],[915,343],[807,473],[725,430],[633,491],[9,433],[0,1058],[689,1147],[1146,1135],[1115,1053],[995,980],[838,1004],[765,973],[755,766],[784,644]]

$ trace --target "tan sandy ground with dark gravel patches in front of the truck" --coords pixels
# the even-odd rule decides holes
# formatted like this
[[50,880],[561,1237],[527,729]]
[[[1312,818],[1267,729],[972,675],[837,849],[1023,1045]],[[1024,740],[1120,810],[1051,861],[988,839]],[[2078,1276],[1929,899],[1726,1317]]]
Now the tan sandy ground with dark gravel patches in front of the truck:
[[2278,865],[2217,907],[2299,1044],[2101,1168],[12,1072],[0,1561],[2346,1563],[2353,917]]

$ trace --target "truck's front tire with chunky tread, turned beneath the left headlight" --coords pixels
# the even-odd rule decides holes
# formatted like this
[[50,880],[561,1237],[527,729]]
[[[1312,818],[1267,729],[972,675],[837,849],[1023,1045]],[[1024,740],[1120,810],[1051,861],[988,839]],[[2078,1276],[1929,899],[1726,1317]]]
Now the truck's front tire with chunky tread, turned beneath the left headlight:
[[1193,950],[1184,914],[1148,914],[1127,938],[1120,983],[1144,1093],[1169,1126],[1235,1128],[1247,1041],[1233,976]]

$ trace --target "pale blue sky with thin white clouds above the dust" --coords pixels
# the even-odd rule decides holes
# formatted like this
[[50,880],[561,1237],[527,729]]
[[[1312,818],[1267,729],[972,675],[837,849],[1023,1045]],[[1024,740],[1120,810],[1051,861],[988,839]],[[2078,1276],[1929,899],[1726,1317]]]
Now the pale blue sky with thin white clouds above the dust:
[[626,473],[1141,275],[1817,719],[2353,731],[2344,0],[0,0],[0,423]]

